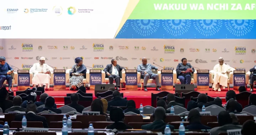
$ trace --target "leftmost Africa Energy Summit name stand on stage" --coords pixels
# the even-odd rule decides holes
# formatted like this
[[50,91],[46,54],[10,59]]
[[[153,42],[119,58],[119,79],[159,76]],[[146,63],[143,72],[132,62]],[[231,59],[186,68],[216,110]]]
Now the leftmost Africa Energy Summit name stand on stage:
[[18,70],[18,91],[24,91],[30,87],[30,72],[29,70]]

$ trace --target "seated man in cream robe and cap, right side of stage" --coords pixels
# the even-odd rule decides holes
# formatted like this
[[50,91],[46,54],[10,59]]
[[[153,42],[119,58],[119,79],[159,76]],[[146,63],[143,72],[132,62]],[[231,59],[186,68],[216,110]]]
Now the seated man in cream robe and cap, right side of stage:
[[214,66],[213,71],[213,90],[221,91],[220,85],[223,86],[223,88],[228,87],[228,76],[232,70],[230,66],[224,64],[222,57],[219,58],[219,64]]

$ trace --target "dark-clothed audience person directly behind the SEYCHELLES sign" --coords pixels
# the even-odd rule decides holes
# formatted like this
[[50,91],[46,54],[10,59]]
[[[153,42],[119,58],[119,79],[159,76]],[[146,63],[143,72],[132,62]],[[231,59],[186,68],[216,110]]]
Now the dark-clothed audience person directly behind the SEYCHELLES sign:
[[27,106],[26,114],[17,114],[15,115],[14,121],[22,121],[23,116],[26,116],[27,121],[41,121],[43,122],[44,128],[49,128],[46,118],[36,114],[37,106],[34,103],[29,103]]

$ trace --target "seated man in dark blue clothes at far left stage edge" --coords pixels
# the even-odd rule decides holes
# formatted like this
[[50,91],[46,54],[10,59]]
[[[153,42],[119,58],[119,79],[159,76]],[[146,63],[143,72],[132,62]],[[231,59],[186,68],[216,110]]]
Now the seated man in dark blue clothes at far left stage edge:
[[11,66],[5,62],[5,57],[0,57],[0,88],[2,87],[5,80],[8,82],[9,91],[11,92],[12,76],[14,70]]

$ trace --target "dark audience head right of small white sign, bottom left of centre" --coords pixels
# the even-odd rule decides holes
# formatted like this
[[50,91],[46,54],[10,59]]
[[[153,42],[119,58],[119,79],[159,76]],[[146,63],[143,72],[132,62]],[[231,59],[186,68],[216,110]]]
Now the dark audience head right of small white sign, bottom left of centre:
[[114,122],[124,121],[123,109],[119,107],[111,109],[110,120]]

